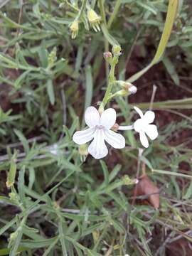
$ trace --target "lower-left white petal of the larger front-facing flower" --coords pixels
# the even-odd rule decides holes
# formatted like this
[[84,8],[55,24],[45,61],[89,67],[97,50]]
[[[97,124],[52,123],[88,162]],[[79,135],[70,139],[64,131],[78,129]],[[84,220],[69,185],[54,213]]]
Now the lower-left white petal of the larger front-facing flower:
[[84,131],[78,131],[73,134],[73,142],[77,143],[78,145],[85,144],[90,142],[90,140],[94,137],[95,128],[88,128]]

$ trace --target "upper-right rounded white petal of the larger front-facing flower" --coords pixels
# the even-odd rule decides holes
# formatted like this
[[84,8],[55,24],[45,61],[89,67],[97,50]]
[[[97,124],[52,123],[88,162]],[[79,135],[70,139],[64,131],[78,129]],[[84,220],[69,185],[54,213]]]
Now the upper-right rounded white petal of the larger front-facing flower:
[[112,128],[116,122],[116,112],[114,109],[110,108],[105,110],[100,119],[100,124],[103,125],[106,129]]

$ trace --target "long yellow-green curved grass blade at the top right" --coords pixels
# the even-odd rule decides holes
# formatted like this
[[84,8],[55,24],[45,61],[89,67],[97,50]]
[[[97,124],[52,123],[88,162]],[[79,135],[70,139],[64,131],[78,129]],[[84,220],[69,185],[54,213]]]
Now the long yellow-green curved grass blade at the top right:
[[178,9],[178,0],[169,0],[169,6],[166,14],[165,25],[164,25],[164,31],[162,33],[161,40],[159,42],[159,46],[156,50],[156,54],[153,60],[148,66],[146,66],[146,68],[132,75],[132,77],[129,78],[127,81],[134,82],[135,80],[140,78],[142,75],[144,75],[144,73],[146,73],[146,71],[148,71],[149,68],[151,68],[153,65],[159,62],[159,60],[161,59],[161,56],[164,54],[164,50],[169,41],[169,37],[171,35],[171,30],[174,25],[177,9]]

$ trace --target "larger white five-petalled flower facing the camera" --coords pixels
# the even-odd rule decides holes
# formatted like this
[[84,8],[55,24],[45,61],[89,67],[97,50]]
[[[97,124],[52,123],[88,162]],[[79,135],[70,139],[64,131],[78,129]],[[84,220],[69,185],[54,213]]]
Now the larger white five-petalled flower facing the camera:
[[108,149],[105,141],[114,149],[122,149],[125,139],[121,134],[110,130],[116,121],[116,112],[109,108],[101,115],[95,107],[87,107],[85,111],[85,123],[89,127],[83,131],[75,132],[73,141],[79,145],[90,142],[88,152],[95,158],[101,159],[107,156]]

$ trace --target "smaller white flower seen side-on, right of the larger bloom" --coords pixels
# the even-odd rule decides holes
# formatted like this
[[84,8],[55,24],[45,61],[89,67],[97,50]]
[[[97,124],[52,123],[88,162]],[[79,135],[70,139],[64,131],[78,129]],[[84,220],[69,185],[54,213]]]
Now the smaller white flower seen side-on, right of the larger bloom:
[[134,110],[136,110],[141,117],[134,122],[134,130],[139,132],[140,141],[142,145],[147,148],[149,146],[149,142],[146,135],[151,140],[154,140],[158,137],[156,125],[151,124],[154,122],[155,114],[150,110],[143,114],[142,110],[139,110],[138,107],[134,107]]

